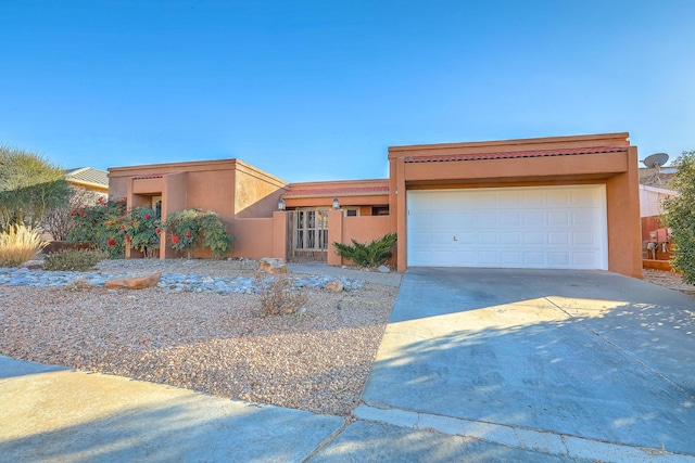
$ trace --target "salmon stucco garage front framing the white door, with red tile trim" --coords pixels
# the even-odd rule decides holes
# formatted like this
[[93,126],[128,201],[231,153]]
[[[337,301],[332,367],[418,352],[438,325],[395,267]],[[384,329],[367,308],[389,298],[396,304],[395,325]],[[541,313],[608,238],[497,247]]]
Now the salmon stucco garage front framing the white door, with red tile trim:
[[389,147],[399,271],[407,269],[406,189],[598,183],[606,185],[608,269],[641,278],[639,166],[628,137],[620,132]]

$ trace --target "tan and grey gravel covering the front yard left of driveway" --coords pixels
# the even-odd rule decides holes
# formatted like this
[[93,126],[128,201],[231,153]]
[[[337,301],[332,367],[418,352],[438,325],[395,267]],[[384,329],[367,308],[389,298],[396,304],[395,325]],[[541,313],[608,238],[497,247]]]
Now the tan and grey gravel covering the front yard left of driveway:
[[[254,261],[138,259],[100,270],[253,275]],[[0,353],[251,402],[349,416],[397,287],[313,291],[264,317],[255,294],[0,286]]]

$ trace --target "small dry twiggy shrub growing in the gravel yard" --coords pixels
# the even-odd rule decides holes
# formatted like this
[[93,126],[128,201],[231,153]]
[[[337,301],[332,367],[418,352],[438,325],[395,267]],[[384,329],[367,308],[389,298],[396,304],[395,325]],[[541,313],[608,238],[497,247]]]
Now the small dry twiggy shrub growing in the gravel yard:
[[308,300],[308,293],[303,286],[295,286],[294,279],[287,273],[256,274],[256,287],[261,296],[261,313],[279,316],[295,313]]

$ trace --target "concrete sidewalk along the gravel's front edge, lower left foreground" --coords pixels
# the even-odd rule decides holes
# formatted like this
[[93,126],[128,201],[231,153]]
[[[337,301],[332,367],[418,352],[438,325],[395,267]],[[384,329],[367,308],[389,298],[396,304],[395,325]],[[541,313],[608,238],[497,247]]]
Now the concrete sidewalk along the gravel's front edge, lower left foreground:
[[2,462],[576,461],[0,357]]

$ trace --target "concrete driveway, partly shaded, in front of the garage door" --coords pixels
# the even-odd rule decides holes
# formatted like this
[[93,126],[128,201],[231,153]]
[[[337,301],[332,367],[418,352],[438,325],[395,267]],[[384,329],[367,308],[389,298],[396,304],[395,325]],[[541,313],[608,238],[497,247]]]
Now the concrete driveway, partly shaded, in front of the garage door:
[[603,271],[410,269],[363,399],[363,419],[548,453],[693,455],[695,298]]

